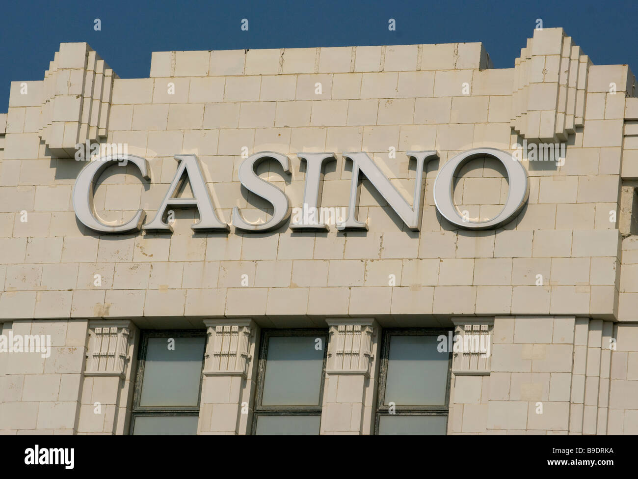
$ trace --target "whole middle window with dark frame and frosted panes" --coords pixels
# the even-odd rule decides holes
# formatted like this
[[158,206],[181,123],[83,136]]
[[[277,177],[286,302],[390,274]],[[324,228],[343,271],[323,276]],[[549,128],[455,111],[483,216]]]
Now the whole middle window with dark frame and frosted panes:
[[328,333],[264,330],[253,434],[319,434]]

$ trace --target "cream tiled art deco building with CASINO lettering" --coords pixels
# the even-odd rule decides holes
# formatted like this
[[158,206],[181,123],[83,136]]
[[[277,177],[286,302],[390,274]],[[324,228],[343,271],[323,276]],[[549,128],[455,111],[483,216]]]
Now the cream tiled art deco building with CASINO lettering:
[[0,431],[638,434],[637,186],[634,75],[560,28],[63,43],[0,114]]

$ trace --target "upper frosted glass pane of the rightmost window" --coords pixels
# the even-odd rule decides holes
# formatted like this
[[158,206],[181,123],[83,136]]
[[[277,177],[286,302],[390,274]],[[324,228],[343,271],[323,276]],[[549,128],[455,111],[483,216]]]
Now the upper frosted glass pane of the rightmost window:
[[434,335],[390,336],[384,404],[445,405],[449,353],[437,346]]

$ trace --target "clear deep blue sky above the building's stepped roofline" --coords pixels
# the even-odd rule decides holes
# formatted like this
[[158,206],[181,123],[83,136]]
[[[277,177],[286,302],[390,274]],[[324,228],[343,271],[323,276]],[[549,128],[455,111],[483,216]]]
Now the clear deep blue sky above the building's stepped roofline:
[[0,112],[10,82],[41,80],[61,42],[89,43],[122,78],[148,77],[153,51],[412,43],[483,42],[495,68],[510,68],[540,18],[596,65],[628,63],[638,73],[635,0],[63,0],[5,2],[2,13]]

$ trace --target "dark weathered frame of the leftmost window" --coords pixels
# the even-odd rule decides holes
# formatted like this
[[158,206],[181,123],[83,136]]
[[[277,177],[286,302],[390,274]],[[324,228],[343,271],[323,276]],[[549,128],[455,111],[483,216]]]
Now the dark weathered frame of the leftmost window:
[[[204,355],[202,356],[202,372],[200,373],[197,406],[140,406],[142,383],[144,383],[144,367],[149,347],[149,338],[202,337],[204,338]],[[204,361],[206,359],[206,330],[142,330],[140,331],[140,347],[137,354],[135,385],[133,386],[133,404],[131,405],[131,424],[128,434],[133,436],[135,419],[138,416],[199,416],[202,403],[202,384],[204,379]]]

